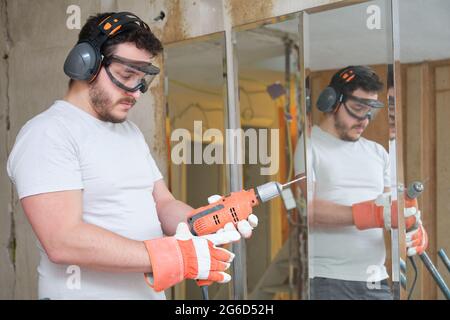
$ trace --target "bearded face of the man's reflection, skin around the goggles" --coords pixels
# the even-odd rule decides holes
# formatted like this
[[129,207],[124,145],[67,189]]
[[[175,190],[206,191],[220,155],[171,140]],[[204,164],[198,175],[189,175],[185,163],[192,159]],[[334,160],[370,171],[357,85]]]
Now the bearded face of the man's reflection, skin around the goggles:
[[[362,89],[353,91],[352,95],[364,99],[378,99],[378,94],[376,92],[366,92]],[[338,108],[338,111],[333,114],[333,117],[334,127],[339,138],[345,141],[357,141],[369,124],[369,119],[355,119],[347,112],[343,104],[338,106]]]

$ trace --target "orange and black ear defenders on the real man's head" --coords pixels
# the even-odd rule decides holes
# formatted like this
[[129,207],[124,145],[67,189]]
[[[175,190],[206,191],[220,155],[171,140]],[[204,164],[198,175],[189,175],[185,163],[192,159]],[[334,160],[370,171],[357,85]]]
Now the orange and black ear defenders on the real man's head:
[[138,26],[148,28],[145,22],[130,12],[118,12],[106,17],[92,37],[78,41],[70,51],[64,62],[64,73],[74,80],[93,81],[101,69],[102,45],[129,27]]

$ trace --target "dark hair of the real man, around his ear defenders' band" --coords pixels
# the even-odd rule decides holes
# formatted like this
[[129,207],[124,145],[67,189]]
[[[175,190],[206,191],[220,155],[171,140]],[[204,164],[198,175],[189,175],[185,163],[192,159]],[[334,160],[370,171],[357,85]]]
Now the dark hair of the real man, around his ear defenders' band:
[[[81,28],[78,35],[78,41],[91,38],[96,33],[98,25],[114,13],[115,12],[104,12],[90,16]],[[130,24],[127,25],[127,28],[124,31],[106,40],[100,48],[100,52],[104,56],[110,56],[113,54],[114,49],[118,44],[126,42],[134,43],[138,49],[146,50],[153,56],[158,55],[163,50],[161,41],[159,41],[159,39],[156,38],[156,36],[149,29],[139,27],[138,24]],[[72,83],[73,80],[71,79],[69,82],[69,87]]]

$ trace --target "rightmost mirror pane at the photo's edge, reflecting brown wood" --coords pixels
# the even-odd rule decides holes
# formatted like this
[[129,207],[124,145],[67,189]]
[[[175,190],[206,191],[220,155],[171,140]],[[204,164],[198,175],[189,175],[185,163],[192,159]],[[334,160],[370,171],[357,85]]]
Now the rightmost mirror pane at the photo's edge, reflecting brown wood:
[[[408,298],[450,299],[450,273],[436,254],[439,250],[450,252],[450,2],[399,0],[394,4],[398,5],[394,19],[399,25],[395,80],[401,84],[396,90],[396,106],[403,120],[403,130],[399,132],[397,127],[397,133],[403,137],[404,184],[420,181],[424,185],[417,198],[422,223],[411,229],[423,227],[421,233],[427,233],[429,239],[425,255],[406,260]],[[398,167],[399,172],[402,169]],[[425,244],[422,236],[408,253],[421,253]],[[426,257],[443,281],[433,280]]]

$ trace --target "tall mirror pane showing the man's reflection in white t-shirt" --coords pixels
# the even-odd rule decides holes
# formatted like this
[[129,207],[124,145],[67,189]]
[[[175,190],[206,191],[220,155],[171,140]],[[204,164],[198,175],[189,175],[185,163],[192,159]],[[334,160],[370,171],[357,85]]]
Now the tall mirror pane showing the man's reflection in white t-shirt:
[[313,196],[310,298],[390,300],[399,280],[391,256],[398,249],[391,236],[398,219],[386,83],[393,60],[391,2],[312,13],[305,23],[311,132],[299,138],[307,156],[296,153],[295,164],[297,174],[307,171]]

